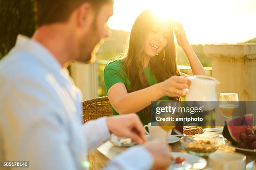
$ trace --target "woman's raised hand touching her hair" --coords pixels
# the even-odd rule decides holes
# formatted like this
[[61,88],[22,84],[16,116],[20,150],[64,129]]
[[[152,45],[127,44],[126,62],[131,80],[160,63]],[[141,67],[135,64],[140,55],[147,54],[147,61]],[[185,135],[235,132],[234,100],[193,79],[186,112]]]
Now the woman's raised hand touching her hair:
[[176,39],[178,42],[178,45],[183,48],[183,50],[187,47],[190,46],[188,40],[187,40],[187,35],[186,32],[182,26],[181,22],[172,22],[171,23],[172,30],[174,31],[176,35]]

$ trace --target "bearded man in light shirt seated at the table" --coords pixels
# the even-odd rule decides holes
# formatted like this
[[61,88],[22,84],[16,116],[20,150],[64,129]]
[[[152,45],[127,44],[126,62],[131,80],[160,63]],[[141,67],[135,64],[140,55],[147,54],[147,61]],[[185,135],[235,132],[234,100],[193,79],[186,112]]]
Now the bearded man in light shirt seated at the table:
[[[31,170],[82,170],[86,153],[110,133],[145,142],[136,114],[82,125],[81,93],[64,68],[71,60],[94,61],[95,45],[108,37],[113,0],[37,0],[37,7],[33,38],[19,35],[0,61],[0,161],[29,161]],[[129,148],[105,169],[166,169],[171,160],[169,147],[153,141]]]

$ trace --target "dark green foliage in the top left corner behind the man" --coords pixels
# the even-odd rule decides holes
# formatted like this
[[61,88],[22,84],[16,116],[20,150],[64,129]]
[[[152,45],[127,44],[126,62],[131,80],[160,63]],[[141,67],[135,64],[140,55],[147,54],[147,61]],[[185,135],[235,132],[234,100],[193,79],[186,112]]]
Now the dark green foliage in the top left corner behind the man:
[[0,59],[15,45],[18,34],[35,30],[34,0],[0,0]]

